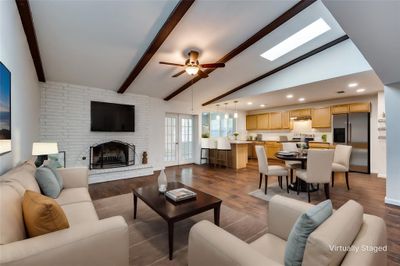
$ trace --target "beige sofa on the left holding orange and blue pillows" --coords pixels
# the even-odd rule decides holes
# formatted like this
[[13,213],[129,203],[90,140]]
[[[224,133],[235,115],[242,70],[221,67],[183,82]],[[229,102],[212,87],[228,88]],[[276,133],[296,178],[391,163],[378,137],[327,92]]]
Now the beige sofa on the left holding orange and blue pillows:
[[32,161],[0,177],[0,265],[128,265],[128,226],[120,217],[99,220],[88,192],[86,168],[59,169],[64,189],[56,201],[68,229],[27,238],[21,201],[40,192]]

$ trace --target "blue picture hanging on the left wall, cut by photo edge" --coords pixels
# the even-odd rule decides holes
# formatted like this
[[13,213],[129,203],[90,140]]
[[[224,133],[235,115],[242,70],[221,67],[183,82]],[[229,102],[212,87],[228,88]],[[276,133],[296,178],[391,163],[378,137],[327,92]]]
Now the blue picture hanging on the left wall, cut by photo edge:
[[0,140],[11,140],[11,72],[0,62]]

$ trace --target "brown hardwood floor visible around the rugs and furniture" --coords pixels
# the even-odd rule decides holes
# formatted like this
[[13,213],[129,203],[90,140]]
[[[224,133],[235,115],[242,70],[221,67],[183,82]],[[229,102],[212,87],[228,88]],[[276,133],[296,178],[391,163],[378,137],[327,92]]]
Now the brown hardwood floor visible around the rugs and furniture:
[[[223,200],[223,204],[240,212],[266,220],[268,206],[265,201],[248,195],[258,188],[257,161],[249,162],[247,168],[234,170],[209,168],[206,165],[184,165],[166,169],[168,181],[180,181]],[[158,172],[146,177],[137,177],[89,186],[93,200],[130,193],[132,188],[157,182]],[[271,180],[273,180],[271,178]],[[386,205],[385,179],[375,175],[350,173],[350,191],[344,177],[337,175],[335,187],[330,189],[334,208],[353,199],[364,206],[364,212],[382,217],[388,232],[388,265],[400,265],[400,208]],[[285,183],[284,183],[285,184]],[[311,194],[311,202],[324,200],[323,193]]]

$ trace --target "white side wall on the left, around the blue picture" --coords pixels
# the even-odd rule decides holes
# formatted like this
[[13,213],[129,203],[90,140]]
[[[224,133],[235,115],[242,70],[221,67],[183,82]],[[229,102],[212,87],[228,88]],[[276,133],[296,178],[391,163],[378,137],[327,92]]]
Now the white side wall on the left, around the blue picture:
[[12,152],[0,155],[0,174],[32,156],[39,138],[40,90],[15,1],[0,1],[0,61],[11,71]]

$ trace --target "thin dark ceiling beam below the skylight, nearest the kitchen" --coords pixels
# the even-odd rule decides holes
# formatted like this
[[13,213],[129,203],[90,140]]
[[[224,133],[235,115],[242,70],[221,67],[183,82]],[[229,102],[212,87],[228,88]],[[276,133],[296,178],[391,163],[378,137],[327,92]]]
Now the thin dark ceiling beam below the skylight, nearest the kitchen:
[[303,61],[306,58],[309,58],[309,57],[311,57],[311,56],[313,56],[315,54],[318,54],[319,52],[322,52],[322,51],[324,51],[324,50],[326,50],[326,49],[338,44],[338,43],[341,43],[341,42],[347,40],[348,38],[349,38],[349,36],[347,36],[347,35],[344,35],[344,36],[342,36],[340,38],[337,38],[337,39],[335,39],[335,40],[333,40],[333,41],[331,41],[331,42],[329,42],[327,44],[324,44],[324,45],[322,45],[322,46],[320,46],[320,47],[318,47],[318,48],[316,48],[316,49],[314,49],[314,50],[312,50],[312,51],[310,51],[310,52],[308,52],[308,53],[306,53],[306,54],[304,54],[302,56],[299,56],[299,57],[287,62],[284,65],[281,65],[281,66],[271,70],[271,71],[269,71],[269,72],[267,72],[267,73],[255,78],[255,79],[252,79],[252,80],[250,80],[250,81],[248,81],[246,83],[243,83],[242,85],[239,85],[236,88],[231,89],[230,91],[225,92],[224,94],[221,94],[218,97],[215,97],[214,99],[203,103],[202,105],[206,106],[206,105],[212,104],[213,102],[218,101],[218,100],[220,100],[220,99],[222,99],[222,98],[224,98],[224,97],[226,97],[226,96],[228,96],[228,95],[230,95],[230,94],[232,94],[234,92],[237,92],[238,90],[241,90],[241,89],[243,89],[243,88],[245,88],[245,87],[257,82],[257,81],[260,81],[260,80],[262,80],[262,79],[264,79],[264,78],[266,78],[268,76],[271,76],[271,75],[273,75],[273,74],[275,74],[275,73],[277,73],[277,72],[279,72],[279,71],[281,71],[281,70],[283,70],[285,68],[288,68],[288,67],[290,67],[290,66],[292,66],[292,65],[294,65],[294,64],[296,64],[296,63],[298,63],[300,61]]

